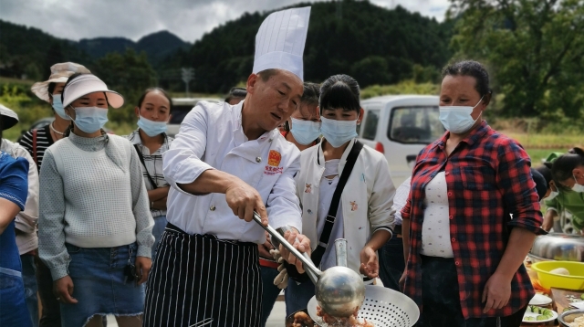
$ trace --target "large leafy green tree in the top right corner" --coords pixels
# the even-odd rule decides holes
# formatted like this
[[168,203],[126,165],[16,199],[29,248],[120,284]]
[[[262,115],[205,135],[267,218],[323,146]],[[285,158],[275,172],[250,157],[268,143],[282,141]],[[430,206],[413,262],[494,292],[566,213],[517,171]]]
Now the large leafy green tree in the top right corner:
[[508,116],[578,118],[584,105],[584,1],[451,0],[456,58],[495,71]]

